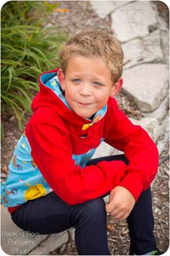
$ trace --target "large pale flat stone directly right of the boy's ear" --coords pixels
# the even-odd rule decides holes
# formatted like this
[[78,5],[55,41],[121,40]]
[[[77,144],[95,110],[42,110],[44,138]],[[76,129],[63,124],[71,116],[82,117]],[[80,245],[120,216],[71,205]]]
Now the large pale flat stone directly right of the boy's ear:
[[169,88],[169,72],[165,64],[141,64],[123,72],[122,90],[128,93],[141,111],[159,106]]

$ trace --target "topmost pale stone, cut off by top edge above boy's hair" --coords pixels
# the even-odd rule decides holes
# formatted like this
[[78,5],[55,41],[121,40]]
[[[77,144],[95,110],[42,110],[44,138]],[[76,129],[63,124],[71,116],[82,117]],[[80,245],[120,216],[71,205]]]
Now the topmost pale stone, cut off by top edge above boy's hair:
[[90,1],[94,12],[104,19],[110,12],[114,11],[117,7],[127,4],[128,1]]

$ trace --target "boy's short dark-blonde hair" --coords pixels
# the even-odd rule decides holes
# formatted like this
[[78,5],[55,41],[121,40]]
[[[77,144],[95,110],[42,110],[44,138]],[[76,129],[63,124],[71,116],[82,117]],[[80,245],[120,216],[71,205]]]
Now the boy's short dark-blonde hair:
[[101,30],[85,30],[69,39],[60,53],[61,69],[66,74],[68,60],[72,56],[102,58],[117,82],[122,75],[123,52],[119,41]]

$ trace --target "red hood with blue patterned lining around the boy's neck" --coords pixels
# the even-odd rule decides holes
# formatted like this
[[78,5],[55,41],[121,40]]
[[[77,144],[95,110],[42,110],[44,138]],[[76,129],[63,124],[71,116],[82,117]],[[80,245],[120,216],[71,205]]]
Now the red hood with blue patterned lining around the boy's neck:
[[92,119],[78,116],[68,105],[66,98],[58,81],[58,69],[44,72],[39,77],[40,92],[37,93],[32,101],[32,111],[40,107],[53,108],[62,119],[72,122],[74,125],[81,126],[82,130],[88,129],[94,123],[101,120],[107,112],[107,104],[94,114]]

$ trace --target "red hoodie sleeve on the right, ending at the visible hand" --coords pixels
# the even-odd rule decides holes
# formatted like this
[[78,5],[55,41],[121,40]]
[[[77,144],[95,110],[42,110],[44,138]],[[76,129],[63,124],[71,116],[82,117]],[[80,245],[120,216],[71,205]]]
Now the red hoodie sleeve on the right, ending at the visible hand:
[[135,200],[147,189],[158,169],[158,150],[148,133],[140,126],[134,125],[117,107],[115,99],[110,98],[109,129],[105,142],[122,150],[129,164],[127,175],[119,185],[128,189]]

